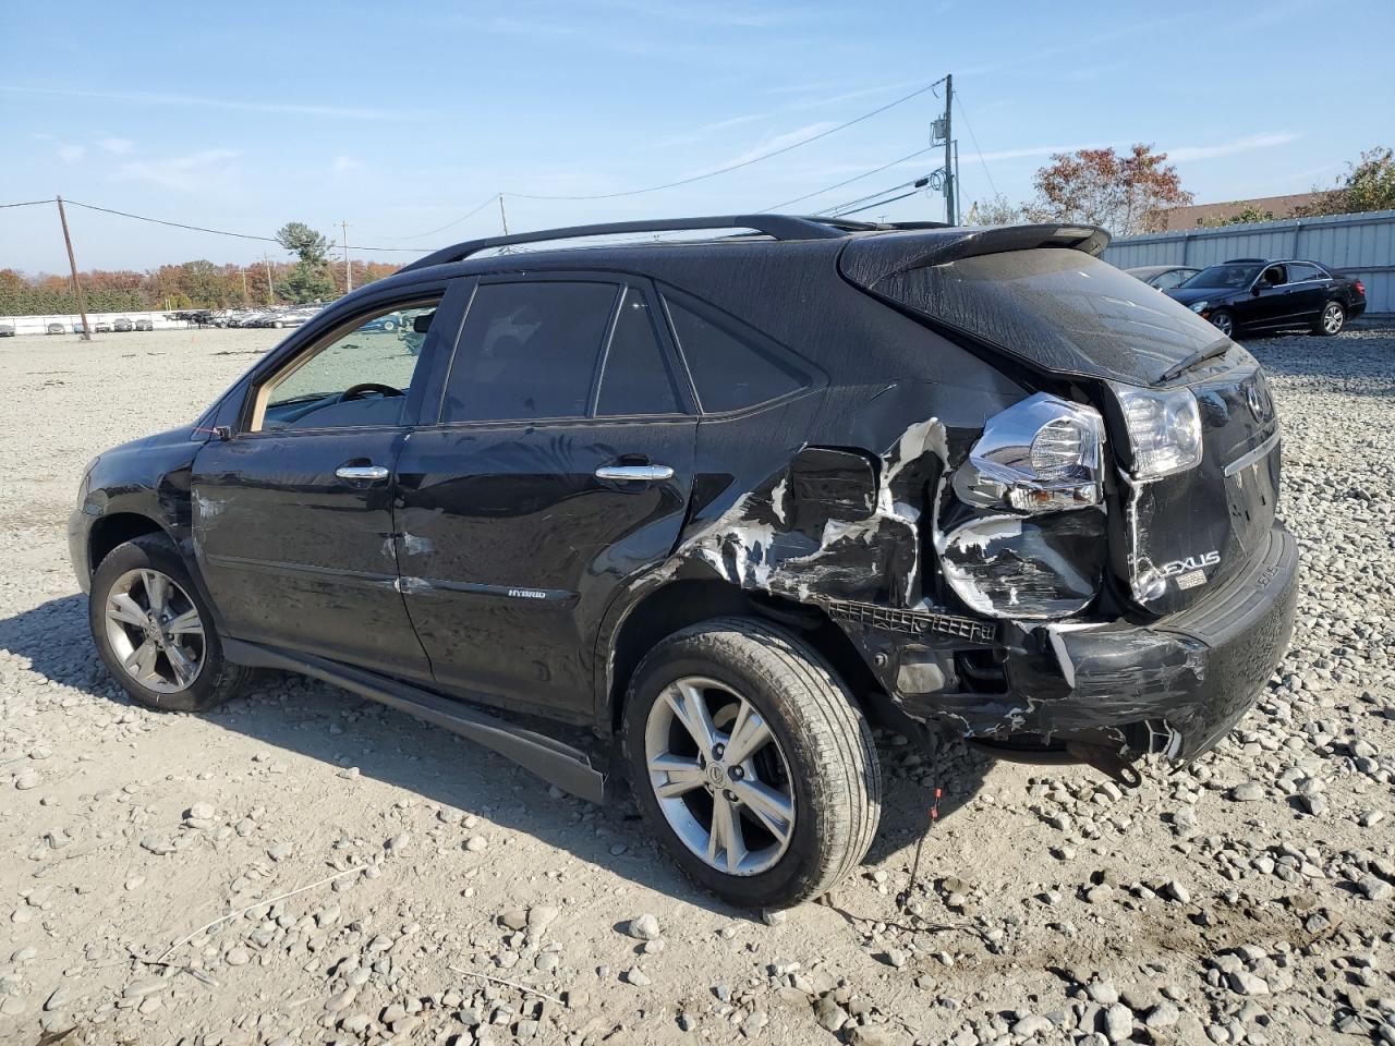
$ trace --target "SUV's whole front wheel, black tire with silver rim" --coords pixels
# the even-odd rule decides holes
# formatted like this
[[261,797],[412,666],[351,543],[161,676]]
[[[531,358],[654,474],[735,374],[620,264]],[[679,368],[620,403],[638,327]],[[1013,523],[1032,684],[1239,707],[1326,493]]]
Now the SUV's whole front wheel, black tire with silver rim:
[[107,554],[92,575],[88,621],[107,671],[149,708],[206,711],[250,675],[223,655],[208,605],[163,534]]

